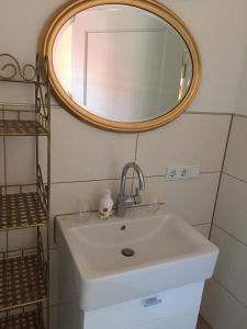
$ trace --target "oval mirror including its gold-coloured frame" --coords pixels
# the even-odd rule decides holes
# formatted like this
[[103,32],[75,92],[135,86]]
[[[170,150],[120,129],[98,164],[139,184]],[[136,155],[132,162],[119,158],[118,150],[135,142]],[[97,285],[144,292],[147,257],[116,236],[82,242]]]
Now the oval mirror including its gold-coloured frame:
[[175,120],[201,77],[191,33],[153,0],[69,2],[46,25],[41,54],[63,104],[111,131],[147,131]]

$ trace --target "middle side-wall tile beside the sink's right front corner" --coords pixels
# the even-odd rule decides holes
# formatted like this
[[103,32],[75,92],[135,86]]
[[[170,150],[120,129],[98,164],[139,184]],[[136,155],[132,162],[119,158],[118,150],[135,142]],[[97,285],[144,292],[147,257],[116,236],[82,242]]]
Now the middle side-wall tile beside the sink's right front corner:
[[221,250],[214,276],[247,307],[247,246],[216,227],[211,240]]

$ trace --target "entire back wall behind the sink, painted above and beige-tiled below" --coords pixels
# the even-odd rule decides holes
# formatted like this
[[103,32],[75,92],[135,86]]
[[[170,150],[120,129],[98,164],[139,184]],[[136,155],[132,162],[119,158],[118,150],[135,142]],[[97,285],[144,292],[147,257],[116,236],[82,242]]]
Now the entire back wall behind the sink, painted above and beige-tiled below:
[[[1,52],[15,55],[21,63],[33,63],[46,18],[64,2],[1,0]],[[111,188],[116,194],[124,163],[136,160],[147,182],[144,203],[149,203],[154,195],[158,195],[159,201],[173,206],[207,236],[231,113],[236,109],[244,65],[247,2],[238,0],[233,3],[227,0],[224,7],[220,0],[162,2],[187,22],[202,55],[202,84],[189,107],[190,114],[154,132],[124,135],[103,132],[79,122],[53,100],[52,216],[82,208],[96,209],[105,188]],[[9,107],[10,104],[16,106],[16,103],[22,106],[31,104],[32,94],[20,88],[0,89],[0,107]],[[9,182],[33,181],[34,140],[23,140],[12,137],[7,141]],[[0,139],[0,183],[3,180],[2,144]],[[200,178],[167,181],[166,167],[180,164],[200,164]],[[10,247],[32,245],[32,234],[31,230],[10,234]],[[0,241],[4,246],[3,237],[0,237]],[[56,246],[52,243],[52,329],[56,328],[56,308],[60,303],[56,254]]]

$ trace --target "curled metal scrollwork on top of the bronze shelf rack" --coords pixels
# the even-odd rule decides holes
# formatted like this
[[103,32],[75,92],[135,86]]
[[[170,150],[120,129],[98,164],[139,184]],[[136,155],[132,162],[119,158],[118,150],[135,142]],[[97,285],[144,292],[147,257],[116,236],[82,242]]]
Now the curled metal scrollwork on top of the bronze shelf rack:
[[14,80],[20,78],[24,81],[34,81],[36,68],[31,64],[21,68],[15,57],[10,54],[0,54],[0,79]]

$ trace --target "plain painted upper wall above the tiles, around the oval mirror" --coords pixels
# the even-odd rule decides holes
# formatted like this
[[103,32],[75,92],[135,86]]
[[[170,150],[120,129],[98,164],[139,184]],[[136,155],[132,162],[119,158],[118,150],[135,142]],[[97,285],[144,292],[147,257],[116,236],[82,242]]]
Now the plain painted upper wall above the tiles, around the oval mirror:
[[[65,0],[1,0],[0,48],[34,61],[41,30]],[[200,47],[203,78],[189,111],[234,112],[247,50],[246,0],[162,0],[192,31]],[[7,95],[5,95],[7,97]],[[12,99],[24,101],[18,94]]]

